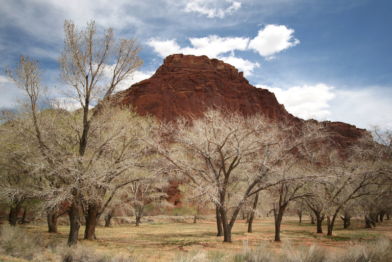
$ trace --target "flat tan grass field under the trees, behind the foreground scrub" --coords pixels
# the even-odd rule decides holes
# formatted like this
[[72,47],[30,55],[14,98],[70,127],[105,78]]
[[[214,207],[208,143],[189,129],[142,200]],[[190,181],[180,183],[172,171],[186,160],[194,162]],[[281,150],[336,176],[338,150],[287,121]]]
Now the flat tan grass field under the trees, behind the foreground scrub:
[[[272,241],[274,223],[272,218],[268,217],[254,221],[253,233],[246,233],[247,224],[244,220],[238,220],[232,230],[233,242],[223,243],[223,237],[216,236],[216,222],[213,217],[198,221],[196,224],[192,223],[191,218],[182,219],[186,221],[182,223],[173,222],[172,218],[164,216],[153,216],[147,219],[149,222],[142,223],[140,227],[134,225],[116,225],[109,228],[99,226],[96,229],[98,240],[89,241],[79,238],[80,252],[124,254],[127,258],[133,258],[133,261],[157,262],[198,261],[186,260],[185,257],[189,254],[202,252],[208,258],[207,261],[219,261],[216,258],[220,258],[221,261],[246,261],[241,258],[236,260],[236,254],[244,254],[245,250],[255,250],[260,246],[269,252],[279,254],[282,252],[282,246],[287,250],[288,244],[290,248],[294,249],[311,248],[313,244],[316,244],[328,253],[336,253],[345,250],[353,242],[382,237],[392,238],[391,220],[378,223],[377,227],[372,229],[365,229],[362,220],[353,219],[349,229],[343,229],[343,223],[337,221],[333,232],[334,236],[326,236],[326,234],[316,234],[316,225],[312,225],[310,221],[302,220],[302,223],[299,223],[297,217],[290,217],[282,222],[282,242],[274,242]],[[326,232],[325,221],[324,226],[323,231]],[[41,243],[44,243],[41,245],[49,246],[49,248],[43,249],[43,252],[48,253],[48,250],[52,250],[53,254],[42,256],[42,261],[44,258],[46,261],[58,261],[54,246],[64,246],[68,237],[68,226],[59,226],[59,234],[47,233],[45,224],[32,223],[18,227],[25,230],[23,234],[38,237],[41,239]],[[82,226],[79,237],[83,236],[83,232],[84,227]],[[7,254],[4,243],[3,240],[0,261],[29,261],[9,256],[10,253]],[[50,249],[51,246],[52,249]],[[40,261],[33,255],[30,259]]]

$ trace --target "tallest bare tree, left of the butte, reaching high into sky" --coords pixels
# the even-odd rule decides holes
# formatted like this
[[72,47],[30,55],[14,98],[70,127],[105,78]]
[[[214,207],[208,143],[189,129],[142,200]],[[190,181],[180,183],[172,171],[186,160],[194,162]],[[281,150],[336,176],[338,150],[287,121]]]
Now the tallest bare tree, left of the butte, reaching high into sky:
[[[59,81],[65,86],[58,88],[58,91],[66,95],[72,101],[76,101],[81,106],[81,121],[78,122],[74,131],[77,134],[77,155],[75,156],[75,170],[71,174],[76,175],[74,183],[70,188],[69,198],[71,203],[68,212],[71,225],[68,243],[75,244],[79,229],[79,206],[82,203],[82,190],[84,179],[81,179],[83,158],[86,155],[88,144],[93,142],[92,124],[104,109],[104,105],[108,103],[110,95],[116,91],[119,84],[126,81],[132,74],[143,64],[138,53],[141,47],[136,40],[120,39],[115,40],[112,28],[106,30],[103,36],[97,34],[97,27],[94,22],[87,24],[85,30],[78,30],[73,21],[64,22],[65,47],[60,52],[57,59],[60,68]],[[95,106],[94,110],[90,110],[91,106]],[[93,146],[93,145],[92,145]],[[100,148],[95,148],[98,150]],[[94,152],[94,150],[93,150]],[[97,152],[98,153],[98,152]],[[99,155],[99,154],[98,154]],[[93,159],[90,157],[90,159]],[[116,157],[112,158],[116,161]],[[102,170],[95,169],[97,173]],[[110,182],[114,180],[116,175],[111,172],[104,172],[106,179]],[[114,173],[123,173],[121,170]],[[98,175],[98,174],[97,174]],[[94,189],[93,189],[94,188]],[[107,191],[106,187],[91,190]],[[89,190],[88,190],[89,191]],[[101,192],[100,195],[103,193]],[[90,198],[91,200],[91,198]],[[94,237],[94,228],[99,213],[99,205],[84,199],[83,211],[86,221],[85,238]]]

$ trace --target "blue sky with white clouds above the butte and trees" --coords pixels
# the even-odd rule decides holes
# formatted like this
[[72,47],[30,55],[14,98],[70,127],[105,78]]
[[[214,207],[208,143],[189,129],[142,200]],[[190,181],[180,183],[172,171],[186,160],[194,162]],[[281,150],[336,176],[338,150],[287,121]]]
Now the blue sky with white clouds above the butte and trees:
[[137,38],[150,77],[172,53],[206,54],[244,71],[302,118],[392,129],[391,0],[0,0],[0,106],[21,53],[58,85],[63,22]]

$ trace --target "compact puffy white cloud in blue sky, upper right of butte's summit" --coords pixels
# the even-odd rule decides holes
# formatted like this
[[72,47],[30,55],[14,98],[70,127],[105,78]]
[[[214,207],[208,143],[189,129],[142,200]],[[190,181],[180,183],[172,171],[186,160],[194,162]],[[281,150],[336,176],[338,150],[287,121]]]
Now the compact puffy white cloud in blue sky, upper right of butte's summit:
[[294,30],[286,26],[267,25],[259,30],[258,35],[250,40],[248,49],[265,56],[267,60],[275,58],[273,54],[299,44],[295,39]]

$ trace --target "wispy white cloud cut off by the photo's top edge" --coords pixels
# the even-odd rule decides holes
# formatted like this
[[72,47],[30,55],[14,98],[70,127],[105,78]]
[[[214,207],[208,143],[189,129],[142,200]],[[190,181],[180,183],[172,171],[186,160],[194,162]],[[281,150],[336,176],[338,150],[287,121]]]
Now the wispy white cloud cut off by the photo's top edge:
[[184,11],[196,12],[200,15],[207,15],[208,18],[224,18],[241,8],[241,2],[234,0],[215,1],[215,0],[193,0],[189,2]]

